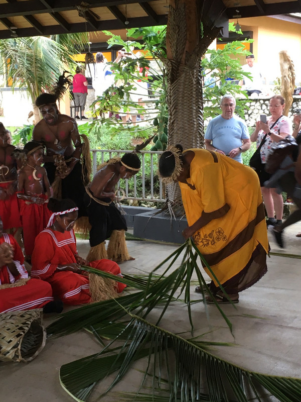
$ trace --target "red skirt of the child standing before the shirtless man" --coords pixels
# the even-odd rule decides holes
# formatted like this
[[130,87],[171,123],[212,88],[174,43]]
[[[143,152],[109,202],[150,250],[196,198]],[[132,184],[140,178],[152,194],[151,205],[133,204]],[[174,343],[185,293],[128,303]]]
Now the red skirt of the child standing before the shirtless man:
[[[36,194],[39,198],[47,199],[46,194]],[[23,226],[23,239],[25,255],[32,255],[35,240],[39,233],[47,227],[51,211],[46,204],[35,204],[25,199],[19,199],[20,216]]]

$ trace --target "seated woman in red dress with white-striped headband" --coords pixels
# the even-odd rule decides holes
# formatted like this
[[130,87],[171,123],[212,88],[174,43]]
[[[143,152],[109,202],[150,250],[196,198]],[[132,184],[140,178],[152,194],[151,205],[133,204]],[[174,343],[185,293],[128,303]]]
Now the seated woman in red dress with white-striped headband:
[[[122,277],[120,268],[116,262],[111,260],[102,259],[88,263],[78,255],[73,231],[78,208],[71,199],[50,198],[48,208],[53,214],[47,229],[36,238],[31,276],[49,282],[54,297],[63,300],[64,304],[89,303],[91,301],[91,283],[87,272],[83,271],[80,265],[87,265]],[[93,275],[93,277],[95,276]],[[123,283],[117,282],[113,293],[122,292],[124,287]],[[100,289],[96,290],[100,292]],[[94,294],[92,296],[93,301],[96,301]],[[109,297],[103,295],[98,299],[101,298]]]

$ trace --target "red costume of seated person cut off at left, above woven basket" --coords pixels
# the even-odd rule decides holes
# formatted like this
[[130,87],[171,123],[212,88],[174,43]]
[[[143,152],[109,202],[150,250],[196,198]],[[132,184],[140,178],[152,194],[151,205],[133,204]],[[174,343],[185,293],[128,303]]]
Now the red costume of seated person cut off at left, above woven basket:
[[[20,274],[14,276],[8,266],[4,265],[0,268],[0,284],[15,283],[20,278],[28,278],[28,273],[23,265],[24,256],[19,244],[12,235],[7,233],[0,237],[0,244],[4,242],[13,246],[14,263]],[[0,288],[0,313],[41,309],[52,300],[52,289],[49,283],[39,279],[30,279],[22,286]]]

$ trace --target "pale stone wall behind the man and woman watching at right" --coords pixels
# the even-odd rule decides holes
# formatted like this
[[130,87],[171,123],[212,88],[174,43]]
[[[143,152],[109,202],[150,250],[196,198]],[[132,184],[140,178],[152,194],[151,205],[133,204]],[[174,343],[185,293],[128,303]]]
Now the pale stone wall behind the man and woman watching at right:
[[[258,97],[252,99],[244,99],[246,110],[245,110],[245,121],[248,127],[255,127],[256,121],[259,120],[260,115],[269,115],[268,101],[269,97]],[[204,101],[204,106],[210,106],[210,102]],[[247,109],[249,108],[249,109]],[[295,109],[301,109],[301,96],[293,96],[293,103],[288,113],[288,117],[292,117],[293,111]],[[207,126],[211,118],[207,119],[205,125]],[[292,122],[292,118],[291,118]]]

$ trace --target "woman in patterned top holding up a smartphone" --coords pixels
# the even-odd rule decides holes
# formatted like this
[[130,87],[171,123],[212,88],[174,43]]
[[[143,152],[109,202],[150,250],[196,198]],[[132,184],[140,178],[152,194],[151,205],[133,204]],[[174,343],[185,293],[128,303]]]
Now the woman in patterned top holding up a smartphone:
[[[260,149],[260,157],[263,164],[266,163],[271,146],[285,138],[287,135],[292,134],[291,123],[288,117],[282,115],[284,106],[284,98],[281,95],[272,96],[269,100],[271,116],[267,118],[266,123],[263,121],[256,122],[256,128],[250,137],[252,142],[256,141],[256,146],[258,148],[263,137],[267,134],[265,142]],[[261,118],[261,120],[263,120],[263,118]],[[266,225],[269,227],[281,224],[283,215],[282,195],[278,194],[275,188],[264,187],[264,182],[271,176],[264,170],[264,168],[258,173],[258,176],[261,194],[268,217]]]

